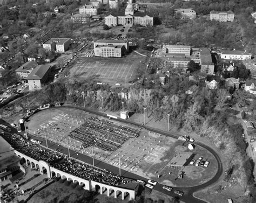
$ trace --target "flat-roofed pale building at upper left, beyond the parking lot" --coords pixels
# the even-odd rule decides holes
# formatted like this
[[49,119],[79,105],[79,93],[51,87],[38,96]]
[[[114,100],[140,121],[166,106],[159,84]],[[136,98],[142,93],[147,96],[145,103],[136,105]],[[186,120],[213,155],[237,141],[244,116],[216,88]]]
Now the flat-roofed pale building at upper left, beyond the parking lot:
[[70,38],[49,38],[43,42],[46,51],[65,52],[70,45]]

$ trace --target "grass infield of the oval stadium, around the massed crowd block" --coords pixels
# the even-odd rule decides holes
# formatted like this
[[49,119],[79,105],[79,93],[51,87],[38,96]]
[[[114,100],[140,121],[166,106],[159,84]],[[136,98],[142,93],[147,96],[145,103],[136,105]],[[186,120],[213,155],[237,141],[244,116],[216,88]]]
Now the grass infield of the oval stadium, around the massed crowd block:
[[[83,123],[83,119],[89,116],[92,115],[77,109],[57,108],[44,110],[30,118],[27,124],[28,131],[42,139],[45,138],[45,131],[50,141],[67,146],[66,138],[69,132],[79,127]],[[140,130],[138,138],[130,138],[116,151],[106,152],[102,149],[94,148],[95,158],[114,166],[119,166],[120,157],[122,169],[169,186],[198,185],[212,178],[217,171],[217,161],[205,149],[196,146],[194,150],[188,150],[187,146],[183,146],[184,143],[177,141],[177,139],[155,134],[144,129]],[[91,147],[81,150],[81,142],[72,138],[69,138],[69,141],[71,149],[92,156]],[[170,160],[180,151],[193,152],[194,159],[203,156],[204,160],[210,161],[210,165],[207,168],[189,164],[179,169],[170,167]],[[184,172],[183,179],[177,179],[179,171]],[[160,176],[159,178],[158,175]]]

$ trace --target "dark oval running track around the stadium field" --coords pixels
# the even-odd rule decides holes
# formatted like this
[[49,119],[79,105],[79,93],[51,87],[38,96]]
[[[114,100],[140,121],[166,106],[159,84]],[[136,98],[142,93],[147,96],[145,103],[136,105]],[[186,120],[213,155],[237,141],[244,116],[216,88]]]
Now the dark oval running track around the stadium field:
[[[62,106],[62,107],[53,107],[53,108],[75,108],[75,109],[87,111],[87,112],[89,112],[91,114],[96,114],[98,116],[103,116],[103,117],[106,117],[106,118],[109,117],[109,116],[107,116],[106,114],[104,114],[102,112],[95,111],[95,110],[92,110],[92,109],[82,108],[82,107],[76,107],[76,106]],[[158,129],[155,129],[155,128],[148,127],[146,125],[141,125],[141,124],[136,123],[136,122],[123,120],[121,118],[111,118],[111,119],[112,120],[116,120],[118,122],[123,122],[123,123],[126,123],[126,124],[136,125],[137,127],[144,128],[146,130],[153,131],[153,132],[156,132],[156,133],[161,134],[161,135],[165,135],[165,136],[169,136],[169,137],[173,137],[173,138],[178,138],[178,135],[172,135],[172,134],[170,134],[170,133],[168,133],[166,131],[161,131],[161,130],[158,130]],[[31,135],[31,134],[29,134],[29,137],[30,138],[38,139],[37,136]],[[42,141],[42,145],[46,146],[45,139],[43,139],[41,137],[39,137],[39,139]],[[217,182],[219,180],[221,174],[223,173],[223,166],[222,166],[221,159],[220,159],[218,153],[216,153],[212,148],[210,148],[210,146],[207,146],[204,143],[201,143],[201,142],[198,142],[198,141],[195,141],[194,144],[197,144],[197,145],[205,148],[206,150],[210,151],[212,153],[212,155],[215,157],[215,159],[217,160],[218,170],[217,170],[217,173],[215,174],[215,176],[211,180],[207,181],[206,183],[198,185],[198,186],[192,186],[192,187],[173,187],[173,190],[171,192],[168,192],[168,191],[166,191],[166,190],[164,190],[162,188],[163,187],[162,184],[157,184],[153,188],[153,190],[157,190],[159,192],[165,193],[165,194],[170,195],[172,197],[178,197],[180,200],[185,201],[185,202],[205,202],[203,200],[194,198],[193,197],[193,193],[198,191],[198,190],[200,190],[200,189],[202,189],[202,188],[205,188],[205,187],[207,187],[209,185],[212,185],[215,182]],[[58,149],[61,150],[62,153],[65,153],[66,155],[68,155],[68,149],[63,147],[63,146],[61,146],[61,145],[58,146],[56,143],[48,142],[48,148],[50,148],[50,149],[58,148]],[[70,150],[70,156],[92,165],[92,157],[86,156],[86,155],[84,155],[82,153],[78,153],[78,155],[77,155],[77,153],[75,151],[73,151],[73,150]],[[112,172],[114,172],[116,174],[119,174],[119,168],[118,167],[115,167],[113,165],[107,164],[107,163],[102,162],[101,160],[98,160],[98,159],[94,159],[94,160],[95,160],[95,166],[96,167],[99,167],[101,169],[107,169],[107,170],[110,170],[110,171],[112,171]],[[145,182],[147,182],[147,180],[148,180],[148,179],[146,179],[144,177],[140,177],[137,174],[128,172],[128,171],[123,170],[123,169],[121,170],[121,175],[123,177],[131,178],[131,179],[134,179],[134,180],[140,179],[140,180],[144,180]],[[183,191],[184,192],[183,197],[179,197],[177,194],[174,194],[174,190]]]

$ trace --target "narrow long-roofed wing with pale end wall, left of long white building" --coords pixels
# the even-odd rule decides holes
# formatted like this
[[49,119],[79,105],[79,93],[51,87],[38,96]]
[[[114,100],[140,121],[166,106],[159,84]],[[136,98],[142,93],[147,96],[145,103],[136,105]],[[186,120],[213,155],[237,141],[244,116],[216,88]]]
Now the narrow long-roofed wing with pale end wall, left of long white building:
[[214,64],[212,62],[211,52],[208,48],[200,48],[201,72],[207,75],[213,75]]

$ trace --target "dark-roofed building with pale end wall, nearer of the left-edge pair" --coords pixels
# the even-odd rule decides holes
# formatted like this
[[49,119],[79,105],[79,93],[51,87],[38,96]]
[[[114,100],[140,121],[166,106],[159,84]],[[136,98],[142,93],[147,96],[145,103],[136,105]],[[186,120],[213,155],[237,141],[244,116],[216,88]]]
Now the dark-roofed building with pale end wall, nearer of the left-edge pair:
[[39,65],[28,76],[29,90],[41,89],[42,83],[48,80],[51,65]]

